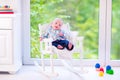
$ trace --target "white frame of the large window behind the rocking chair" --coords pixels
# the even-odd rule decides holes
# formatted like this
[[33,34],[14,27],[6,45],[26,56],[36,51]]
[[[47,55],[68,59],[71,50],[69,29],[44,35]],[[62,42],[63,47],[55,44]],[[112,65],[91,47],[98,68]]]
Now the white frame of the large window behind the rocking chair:
[[[91,59],[82,59],[82,60],[73,60],[75,65],[81,64],[82,65],[95,65],[96,62],[101,63],[101,65],[105,65],[105,26],[106,26],[106,0],[99,0],[100,3],[100,13],[99,13],[99,52],[98,52],[98,59],[91,60]],[[23,0],[22,1],[23,8],[23,64],[33,64],[34,60],[40,59],[32,59],[30,58],[30,0]],[[48,60],[46,60],[48,61]],[[55,64],[60,65],[59,60],[54,60]]]

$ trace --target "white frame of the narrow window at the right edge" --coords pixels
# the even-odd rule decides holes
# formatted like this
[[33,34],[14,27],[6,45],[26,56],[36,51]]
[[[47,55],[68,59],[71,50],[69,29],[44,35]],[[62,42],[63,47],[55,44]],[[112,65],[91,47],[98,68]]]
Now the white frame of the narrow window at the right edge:
[[107,0],[106,16],[106,65],[120,66],[120,60],[111,60],[112,0]]

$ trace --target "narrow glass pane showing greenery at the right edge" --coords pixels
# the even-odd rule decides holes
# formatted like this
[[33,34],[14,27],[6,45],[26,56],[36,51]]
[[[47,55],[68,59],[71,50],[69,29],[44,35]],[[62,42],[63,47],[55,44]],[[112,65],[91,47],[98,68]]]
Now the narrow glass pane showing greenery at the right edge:
[[120,0],[112,0],[111,59],[120,59]]

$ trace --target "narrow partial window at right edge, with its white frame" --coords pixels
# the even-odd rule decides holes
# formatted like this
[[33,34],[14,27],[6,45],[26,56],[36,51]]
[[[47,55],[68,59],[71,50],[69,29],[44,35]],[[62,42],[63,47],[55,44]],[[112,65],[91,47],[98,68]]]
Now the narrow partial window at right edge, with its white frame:
[[106,63],[120,66],[119,57],[119,5],[120,0],[108,0],[107,3],[107,38],[106,38]]

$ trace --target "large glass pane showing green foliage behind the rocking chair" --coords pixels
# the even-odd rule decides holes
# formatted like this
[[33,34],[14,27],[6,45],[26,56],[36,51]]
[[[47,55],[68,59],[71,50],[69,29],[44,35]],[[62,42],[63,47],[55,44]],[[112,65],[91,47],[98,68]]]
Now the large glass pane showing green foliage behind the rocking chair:
[[[41,54],[38,24],[49,23],[60,17],[70,23],[72,31],[84,37],[84,58],[98,59],[99,0],[31,0],[30,4],[32,58],[40,57]],[[73,58],[80,58],[80,53],[75,52]]]

